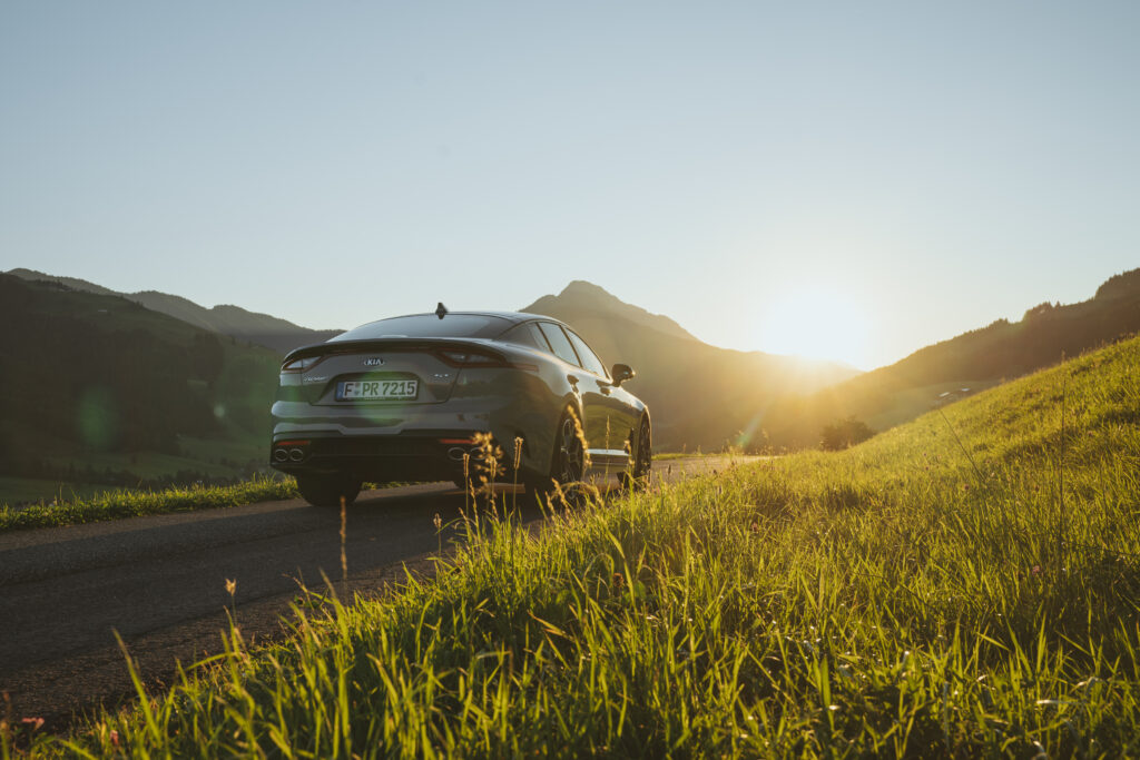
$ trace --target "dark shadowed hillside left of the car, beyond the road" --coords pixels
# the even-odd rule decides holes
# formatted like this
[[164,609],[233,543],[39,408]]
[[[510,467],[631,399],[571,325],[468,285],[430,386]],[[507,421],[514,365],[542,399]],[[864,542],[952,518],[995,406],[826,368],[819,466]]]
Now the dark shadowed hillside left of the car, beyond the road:
[[0,474],[238,475],[263,455],[278,365],[122,296],[0,275]]

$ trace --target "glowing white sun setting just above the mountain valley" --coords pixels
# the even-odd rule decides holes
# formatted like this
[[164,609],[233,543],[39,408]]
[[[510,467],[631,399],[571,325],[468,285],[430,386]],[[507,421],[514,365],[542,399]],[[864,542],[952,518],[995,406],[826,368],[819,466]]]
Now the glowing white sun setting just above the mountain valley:
[[871,329],[865,308],[842,293],[799,288],[762,310],[758,348],[768,353],[841,361],[868,368]]

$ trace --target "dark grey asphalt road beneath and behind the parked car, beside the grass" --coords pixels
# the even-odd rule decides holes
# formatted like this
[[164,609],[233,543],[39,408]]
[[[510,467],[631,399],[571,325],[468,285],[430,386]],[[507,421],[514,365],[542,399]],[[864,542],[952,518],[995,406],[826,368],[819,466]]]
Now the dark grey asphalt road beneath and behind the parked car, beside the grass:
[[[674,459],[654,473],[675,480],[727,464]],[[519,497],[522,520],[540,520],[529,504]],[[407,566],[430,572],[440,546],[457,540],[463,507],[463,492],[442,483],[361,493],[348,510],[342,591],[377,594]],[[437,513],[453,523],[442,533]],[[17,717],[65,726],[73,711],[129,694],[115,631],[161,684],[176,659],[220,649],[227,607],[243,634],[280,635],[299,582],[324,589],[323,575],[341,579],[340,513],[300,499],[0,534],[0,690]]]

